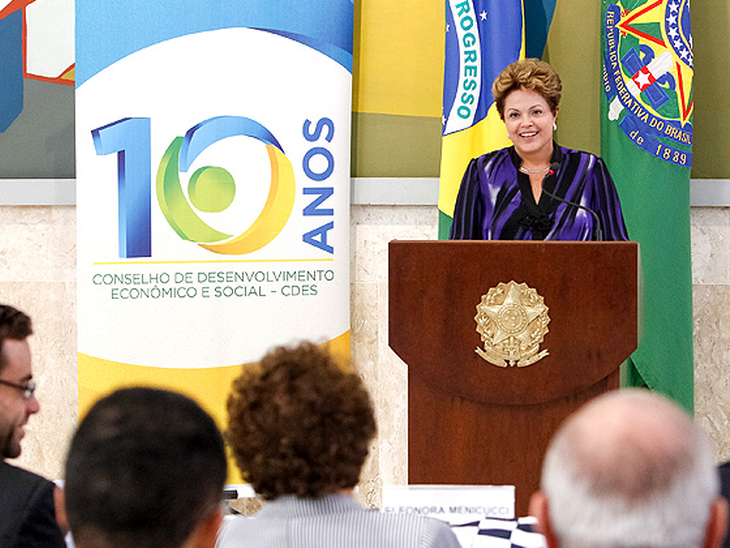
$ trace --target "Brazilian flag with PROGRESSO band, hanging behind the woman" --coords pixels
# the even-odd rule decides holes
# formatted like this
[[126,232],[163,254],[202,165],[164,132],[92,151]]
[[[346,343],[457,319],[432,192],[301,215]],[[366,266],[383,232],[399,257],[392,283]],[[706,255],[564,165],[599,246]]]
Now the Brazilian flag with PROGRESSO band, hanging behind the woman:
[[[469,161],[511,143],[492,97],[510,63],[540,57],[555,0],[446,0],[439,238],[448,239]],[[528,34],[529,33],[529,34]]]

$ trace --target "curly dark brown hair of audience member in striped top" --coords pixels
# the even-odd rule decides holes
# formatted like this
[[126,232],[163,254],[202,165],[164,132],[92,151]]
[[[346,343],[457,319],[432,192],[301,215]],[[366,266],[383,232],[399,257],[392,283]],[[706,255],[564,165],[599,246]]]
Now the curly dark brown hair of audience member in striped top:
[[275,348],[244,366],[228,421],[241,473],[267,500],[354,487],[376,432],[360,377],[311,343]]

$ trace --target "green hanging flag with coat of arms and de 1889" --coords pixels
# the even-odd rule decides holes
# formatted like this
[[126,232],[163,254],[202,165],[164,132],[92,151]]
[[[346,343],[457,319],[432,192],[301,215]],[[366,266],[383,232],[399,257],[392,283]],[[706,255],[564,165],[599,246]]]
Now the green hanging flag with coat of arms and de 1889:
[[641,244],[639,347],[627,380],[692,411],[689,0],[603,0],[601,155]]

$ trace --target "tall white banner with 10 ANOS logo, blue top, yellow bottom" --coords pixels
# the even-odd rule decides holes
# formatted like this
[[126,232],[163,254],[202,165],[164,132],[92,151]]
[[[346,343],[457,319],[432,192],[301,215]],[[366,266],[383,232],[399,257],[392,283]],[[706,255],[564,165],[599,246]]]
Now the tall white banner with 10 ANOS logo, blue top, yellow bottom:
[[349,354],[351,0],[77,0],[79,407]]

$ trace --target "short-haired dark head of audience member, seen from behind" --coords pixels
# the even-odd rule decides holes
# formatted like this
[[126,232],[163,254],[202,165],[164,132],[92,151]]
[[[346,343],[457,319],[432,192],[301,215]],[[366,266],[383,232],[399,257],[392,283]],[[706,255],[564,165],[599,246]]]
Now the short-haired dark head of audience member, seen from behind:
[[73,436],[65,501],[78,548],[212,546],[226,479],[223,439],[190,398],[127,388]]

